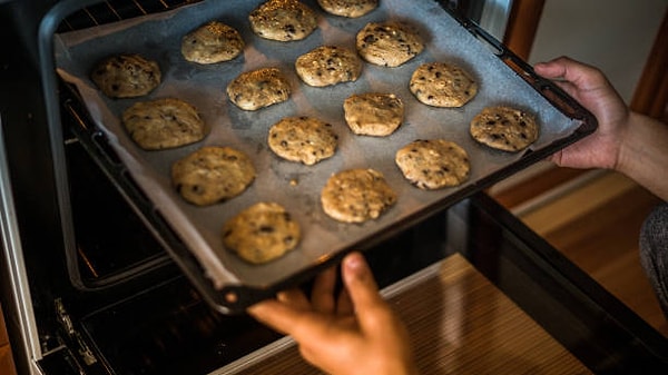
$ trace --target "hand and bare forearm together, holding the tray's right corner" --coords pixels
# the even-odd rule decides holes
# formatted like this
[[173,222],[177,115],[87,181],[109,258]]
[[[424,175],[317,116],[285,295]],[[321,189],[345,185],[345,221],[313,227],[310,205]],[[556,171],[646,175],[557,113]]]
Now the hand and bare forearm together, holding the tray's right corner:
[[551,157],[558,166],[607,168],[627,175],[668,200],[668,126],[632,112],[598,69],[566,57],[537,63],[536,72],[553,79],[596,116],[596,132]]

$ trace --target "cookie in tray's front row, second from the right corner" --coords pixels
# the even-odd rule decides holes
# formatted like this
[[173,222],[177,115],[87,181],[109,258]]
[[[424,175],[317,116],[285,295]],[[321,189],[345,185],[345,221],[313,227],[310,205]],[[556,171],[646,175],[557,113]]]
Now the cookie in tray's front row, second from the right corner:
[[423,190],[459,186],[469,178],[469,155],[444,139],[415,140],[399,151],[394,161],[404,177]]

